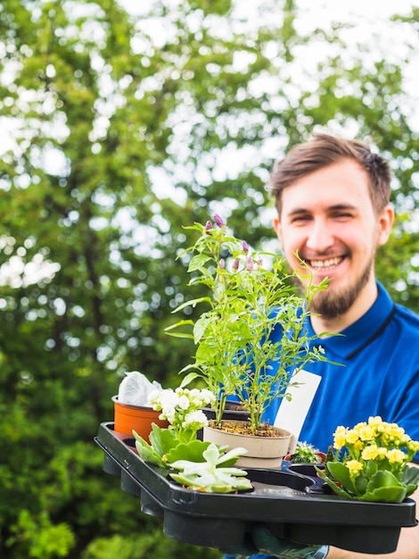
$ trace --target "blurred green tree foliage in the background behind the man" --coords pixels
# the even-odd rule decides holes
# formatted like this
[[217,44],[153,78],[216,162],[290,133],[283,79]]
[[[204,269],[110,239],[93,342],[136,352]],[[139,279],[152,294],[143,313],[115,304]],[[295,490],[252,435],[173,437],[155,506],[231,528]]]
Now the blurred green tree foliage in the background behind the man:
[[[255,245],[272,238],[268,171],[313,128],[355,129],[391,158],[400,219],[378,272],[419,310],[409,45],[387,59],[345,26],[303,30],[294,0],[254,2],[251,14],[240,2],[132,4],[141,13],[116,0],[0,5],[0,555],[10,559],[196,555],[102,473],[92,439],[123,371],[168,386],[189,362],[193,348],[163,334],[184,300],[182,225],[217,211]],[[392,26],[412,37],[417,11]],[[333,51],[305,69],[319,45]]]

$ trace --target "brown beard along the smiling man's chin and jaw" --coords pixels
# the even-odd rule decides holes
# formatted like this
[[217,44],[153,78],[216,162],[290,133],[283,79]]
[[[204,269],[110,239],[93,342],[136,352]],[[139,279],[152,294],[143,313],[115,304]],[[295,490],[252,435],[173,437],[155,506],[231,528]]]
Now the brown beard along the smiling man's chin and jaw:
[[365,288],[368,283],[371,273],[373,272],[374,259],[375,251],[354,285],[335,290],[333,288],[325,288],[324,291],[316,293],[310,305],[311,312],[320,314],[326,320],[331,320],[341,316],[341,314],[347,313],[357,300],[357,296],[361,289]]

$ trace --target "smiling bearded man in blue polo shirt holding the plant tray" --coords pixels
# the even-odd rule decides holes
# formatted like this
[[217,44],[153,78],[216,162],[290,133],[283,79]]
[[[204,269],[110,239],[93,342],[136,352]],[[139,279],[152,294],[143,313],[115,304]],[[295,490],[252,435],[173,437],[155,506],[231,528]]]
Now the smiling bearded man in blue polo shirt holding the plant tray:
[[[398,423],[419,440],[419,317],[395,305],[374,273],[377,249],[393,223],[390,179],[389,164],[366,144],[325,134],[294,147],[271,177],[274,228],[292,270],[304,272],[301,259],[316,282],[330,279],[316,294],[307,323],[330,363],[309,364],[307,386],[295,390],[291,403],[278,399],[264,419],[287,429],[283,421],[304,409],[293,432],[323,451],[338,425],[350,428],[370,416]],[[416,502],[418,496],[416,491]],[[326,555],[419,559],[419,527],[402,529],[397,551],[388,555],[322,547],[272,556]]]

